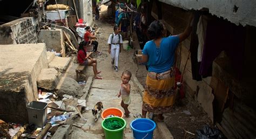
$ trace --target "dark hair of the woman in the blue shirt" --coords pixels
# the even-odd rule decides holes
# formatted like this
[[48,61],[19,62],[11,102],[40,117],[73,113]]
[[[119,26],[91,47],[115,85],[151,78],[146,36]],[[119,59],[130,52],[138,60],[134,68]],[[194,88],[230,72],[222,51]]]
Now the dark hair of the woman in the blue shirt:
[[147,29],[147,37],[150,40],[158,39],[163,36],[163,30],[164,25],[159,20],[155,20],[150,24],[149,29]]

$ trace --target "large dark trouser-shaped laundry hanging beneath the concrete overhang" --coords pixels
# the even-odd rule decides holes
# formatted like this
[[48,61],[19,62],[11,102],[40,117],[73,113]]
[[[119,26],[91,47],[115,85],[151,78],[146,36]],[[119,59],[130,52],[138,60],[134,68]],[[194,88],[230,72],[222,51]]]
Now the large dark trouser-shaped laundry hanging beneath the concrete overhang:
[[221,51],[230,58],[234,72],[241,77],[244,61],[246,29],[225,20],[207,22],[206,38],[199,73],[205,77],[212,75],[212,62]]

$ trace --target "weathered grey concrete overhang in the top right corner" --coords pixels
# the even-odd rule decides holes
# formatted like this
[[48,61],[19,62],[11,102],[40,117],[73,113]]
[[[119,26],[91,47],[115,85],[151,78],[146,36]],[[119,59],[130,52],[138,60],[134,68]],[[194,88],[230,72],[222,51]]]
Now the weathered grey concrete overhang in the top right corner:
[[180,1],[180,0],[160,0],[186,10],[201,10],[207,8],[210,13],[218,17],[230,20],[232,23],[256,26],[256,1],[240,0],[197,0],[197,1]]

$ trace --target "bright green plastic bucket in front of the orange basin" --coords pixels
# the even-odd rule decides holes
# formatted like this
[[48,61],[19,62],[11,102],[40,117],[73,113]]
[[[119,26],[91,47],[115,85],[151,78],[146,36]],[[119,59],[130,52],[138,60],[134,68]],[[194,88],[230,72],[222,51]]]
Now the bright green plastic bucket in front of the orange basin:
[[[106,120],[117,120],[118,122],[122,123],[123,126],[116,130],[107,129],[106,127],[104,127],[104,123],[106,122]],[[125,126],[126,126],[126,121],[123,118],[114,116],[114,117],[109,117],[104,119],[102,121],[102,128],[104,129],[105,139],[119,139],[119,138],[123,139]]]

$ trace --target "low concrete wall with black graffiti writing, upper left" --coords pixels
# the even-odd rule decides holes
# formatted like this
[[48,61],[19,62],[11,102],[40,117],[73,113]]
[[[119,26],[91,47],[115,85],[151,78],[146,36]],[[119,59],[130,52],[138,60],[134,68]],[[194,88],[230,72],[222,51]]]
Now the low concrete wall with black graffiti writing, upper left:
[[37,43],[37,20],[23,17],[0,26],[0,44]]

